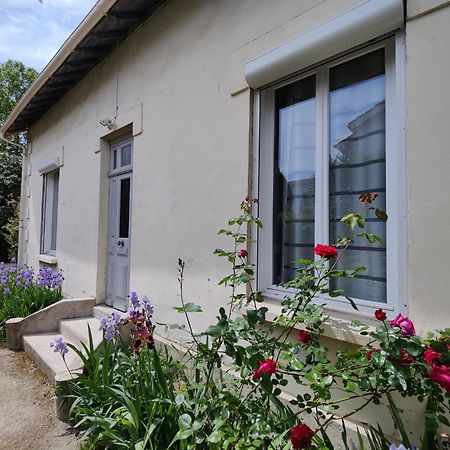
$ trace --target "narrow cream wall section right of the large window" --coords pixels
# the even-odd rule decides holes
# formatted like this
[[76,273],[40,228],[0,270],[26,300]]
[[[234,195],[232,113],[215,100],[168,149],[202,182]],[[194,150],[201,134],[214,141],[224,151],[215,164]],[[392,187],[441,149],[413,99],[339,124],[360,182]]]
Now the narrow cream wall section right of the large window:
[[409,303],[424,331],[448,327],[450,5],[407,23]]

